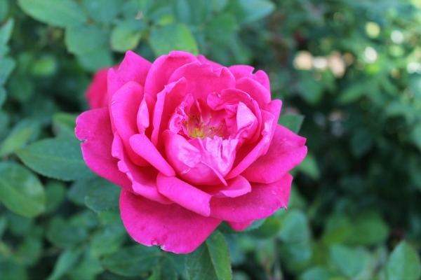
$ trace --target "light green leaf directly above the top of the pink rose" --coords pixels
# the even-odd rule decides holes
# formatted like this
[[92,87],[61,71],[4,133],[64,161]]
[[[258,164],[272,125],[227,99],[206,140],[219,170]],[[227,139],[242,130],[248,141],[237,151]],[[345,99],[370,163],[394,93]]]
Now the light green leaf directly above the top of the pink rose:
[[199,55],[199,48],[192,32],[186,25],[180,23],[153,29],[149,43],[157,57],[168,54],[171,50],[185,50],[193,55]]

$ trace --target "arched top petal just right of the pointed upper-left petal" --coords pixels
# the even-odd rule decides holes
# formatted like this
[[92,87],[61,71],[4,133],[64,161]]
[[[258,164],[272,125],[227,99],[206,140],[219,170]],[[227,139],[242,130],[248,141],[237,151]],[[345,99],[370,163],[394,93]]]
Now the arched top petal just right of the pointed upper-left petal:
[[165,85],[171,83],[168,82],[168,80],[176,69],[195,61],[197,61],[197,59],[194,55],[177,50],[170,52],[169,55],[158,57],[152,64],[149,73],[147,73],[145,81],[146,94],[149,94],[156,99],[156,94],[161,92]]

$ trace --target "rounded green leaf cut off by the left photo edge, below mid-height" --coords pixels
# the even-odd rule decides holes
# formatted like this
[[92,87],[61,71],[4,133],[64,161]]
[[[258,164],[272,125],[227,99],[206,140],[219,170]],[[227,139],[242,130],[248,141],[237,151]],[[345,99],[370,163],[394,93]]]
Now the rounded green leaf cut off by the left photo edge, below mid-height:
[[44,187],[38,177],[12,162],[0,162],[0,201],[25,217],[38,216],[46,209]]

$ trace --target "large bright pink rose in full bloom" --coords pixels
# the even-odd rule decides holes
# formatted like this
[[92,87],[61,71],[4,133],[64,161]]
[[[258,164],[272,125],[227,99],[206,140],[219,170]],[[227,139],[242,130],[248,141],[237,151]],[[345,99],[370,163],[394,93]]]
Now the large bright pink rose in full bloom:
[[88,167],[121,186],[135,241],[189,253],[222,221],[244,230],[287,206],[288,172],[307,147],[278,124],[264,71],[180,51],[151,64],[129,51],[90,92],[76,136]]

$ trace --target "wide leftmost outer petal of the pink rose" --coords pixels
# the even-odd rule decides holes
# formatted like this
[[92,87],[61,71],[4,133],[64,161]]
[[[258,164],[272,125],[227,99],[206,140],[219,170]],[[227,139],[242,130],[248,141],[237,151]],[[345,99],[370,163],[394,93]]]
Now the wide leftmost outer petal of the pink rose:
[[86,165],[99,176],[131,190],[131,181],[119,171],[118,160],[112,157],[113,135],[108,108],[81,113],[76,118],[75,133],[79,140],[85,140],[81,149]]

